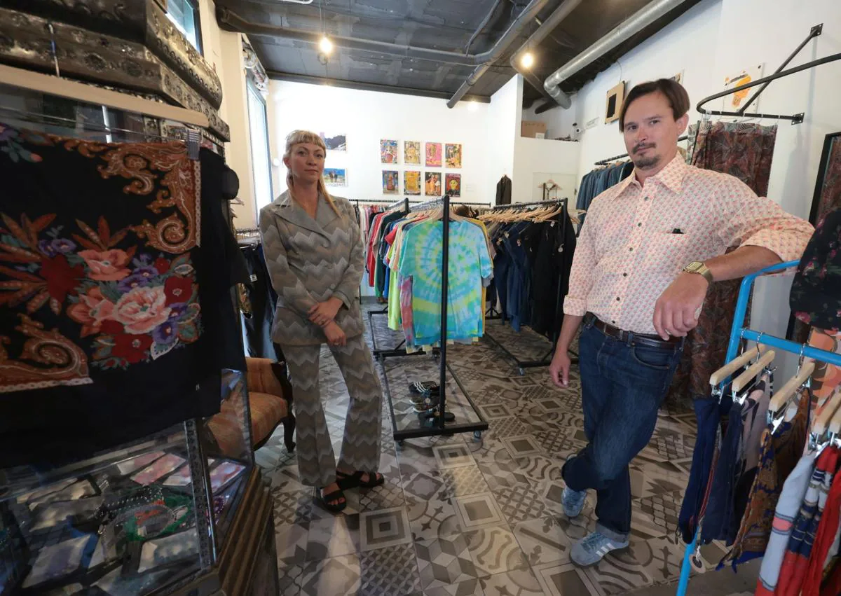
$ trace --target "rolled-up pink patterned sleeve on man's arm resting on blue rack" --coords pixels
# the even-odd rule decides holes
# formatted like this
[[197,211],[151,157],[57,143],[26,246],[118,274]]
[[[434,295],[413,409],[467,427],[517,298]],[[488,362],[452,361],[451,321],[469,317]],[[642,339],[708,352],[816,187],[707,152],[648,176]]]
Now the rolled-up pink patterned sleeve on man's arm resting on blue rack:
[[800,259],[812,238],[812,224],[758,197],[736,178],[729,177],[726,187],[727,217],[720,235],[727,246],[762,246],[784,262]]

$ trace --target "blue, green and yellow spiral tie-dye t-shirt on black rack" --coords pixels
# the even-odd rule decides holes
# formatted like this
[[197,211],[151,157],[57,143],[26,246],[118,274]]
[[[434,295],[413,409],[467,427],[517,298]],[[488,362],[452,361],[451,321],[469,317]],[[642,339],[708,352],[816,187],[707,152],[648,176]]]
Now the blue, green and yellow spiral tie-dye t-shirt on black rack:
[[[404,230],[399,273],[412,278],[415,343],[441,339],[442,238],[441,221],[425,221]],[[468,221],[450,222],[447,288],[447,339],[464,340],[484,332],[483,277],[493,265],[484,231]]]

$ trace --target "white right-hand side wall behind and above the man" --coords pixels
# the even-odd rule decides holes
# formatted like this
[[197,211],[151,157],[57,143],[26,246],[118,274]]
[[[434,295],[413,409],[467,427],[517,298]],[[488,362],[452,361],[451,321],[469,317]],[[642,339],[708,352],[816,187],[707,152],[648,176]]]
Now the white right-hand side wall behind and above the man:
[[[683,84],[692,100],[690,122],[696,121],[696,103],[721,91],[725,76],[759,63],[764,63],[764,74],[770,74],[806,38],[812,25],[820,23],[824,24],[823,34],[801,50],[790,67],[841,52],[838,0],[705,0],[596,76],[574,96],[570,110],[555,108],[537,118],[526,115],[526,119],[544,119],[549,130],[560,127],[562,134],[568,134],[564,129],[567,123],[584,125],[599,119],[599,124],[581,137],[580,181],[595,161],[625,152],[618,123],[602,124],[606,92],[616,82],[624,80],[630,89],[639,82],[683,71]],[[759,98],[762,112],[806,113],[803,124],[779,121],[768,189],[770,198],[803,218],[812,204],[823,137],[841,129],[839,96],[841,63],[834,62],[772,82]],[[790,279],[759,282],[754,294],[754,328],[785,335],[790,285]],[[782,378],[791,367],[789,359],[782,367]]]

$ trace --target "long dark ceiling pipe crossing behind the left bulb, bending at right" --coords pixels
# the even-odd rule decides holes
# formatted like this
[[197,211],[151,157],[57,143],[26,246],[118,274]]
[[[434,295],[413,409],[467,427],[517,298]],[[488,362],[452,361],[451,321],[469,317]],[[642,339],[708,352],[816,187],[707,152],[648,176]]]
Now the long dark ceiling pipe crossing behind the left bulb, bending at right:
[[[548,0],[532,0],[532,3],[537,3],[542,8]],[[531,5],[530,5],[531,6]],[[528,10],[528,8],[526,8]],[[531,12],[531,11],[530,11]],[[539,12],[539,8],[538,11]],[[522,14],[525,14],[523,11]],[[530,20],[530,19],[525,19]],[[312,45],[318,45],[322,33],[320,31],[292,29],[290,27],[278,27],[277,25],[253,23],[242,18],[239,14],[234,13],[230,8],[219,6],[216,7],[216,21],[225,31],[235,31],[237,33],[244,33],[248,35],[268,35],[270,37],[283,37],[289,40],[304,41]],[[520,21],[518,17],[515,22]],[[521,24],[524,26],[525,24]],[[513,27],[513,24],[512,24]],[[451,52],[447,50],[432,50],[428,48],[419,48],[411,45],[392,44],[388,41],[376,40],[357,40],[350,37],[343,37],[341,35],[330,35],[330,40],[333,45],[348,50],[362,50],[376,52],[384,55],[394,55],[400,58],[414,58],[415,60],[428,60],[433,62],[441,62],[445,64],[458,64],[461,66],[478,66],[484,65],[489,61],[494,61],[498,58],[497,47],[509,35],[511,28],[505,31],[505,34],[496,42],[493,48],[481,54],[463,54],[461,52]],[[519,31],[517,31],[519,33]],[[506,41],[506,45],[510,40]]]

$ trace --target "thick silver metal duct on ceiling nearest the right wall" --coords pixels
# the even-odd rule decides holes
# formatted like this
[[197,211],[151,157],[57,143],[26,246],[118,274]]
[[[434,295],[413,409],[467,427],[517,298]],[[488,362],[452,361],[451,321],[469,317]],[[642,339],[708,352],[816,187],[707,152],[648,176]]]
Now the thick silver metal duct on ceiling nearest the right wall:
[[[575,56],[571,61],[567,62],[557,71],[547,76],[546,81],[543,82],[543,88],[552,96],[556,103],[562,108],[569,108],[572,101],[566,93],[561,91],[561,83],[566,81],[570,76],[580,71],[584,66],[589,65],[592,61],[605,55],[610,50],[613,50],[617,45],[630,38],[632,35],[639,33],[648,25],[652,24],[658,18],[669,13],[673,8],[677,8],[680,4],[685,3],[686,0],[652,0],[643,8],[640,8],[631,17],[625,19],[618,24],[609,34],[606,34],[595,44],[590,45],[589,48]],[[540,108],[543,108],[541,106]],[[536,112],[540,113],[540,108]],[[543,110],[545,111],[545,110]]]

